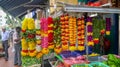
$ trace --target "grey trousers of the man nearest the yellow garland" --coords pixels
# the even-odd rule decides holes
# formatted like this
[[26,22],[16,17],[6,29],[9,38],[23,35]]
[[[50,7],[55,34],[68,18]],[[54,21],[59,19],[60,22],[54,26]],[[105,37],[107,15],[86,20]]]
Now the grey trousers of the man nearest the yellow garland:
[[22,61],[21,61],[21,44],[15,44],[14,49],[15,49],[14,64],[18,64],[19,66],[21,66],[21,64],[22,64]]

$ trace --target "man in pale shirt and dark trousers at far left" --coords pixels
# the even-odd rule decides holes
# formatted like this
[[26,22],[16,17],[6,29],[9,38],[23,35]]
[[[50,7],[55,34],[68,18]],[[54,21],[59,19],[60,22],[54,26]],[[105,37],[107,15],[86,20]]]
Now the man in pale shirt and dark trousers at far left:
[[2,28],[1,39],[2,39],[3,51],[5,52],[5,60],[8,61],[8,48],[9,48],[8,39],[9,39],[9,32],[6,31],[5,28]]

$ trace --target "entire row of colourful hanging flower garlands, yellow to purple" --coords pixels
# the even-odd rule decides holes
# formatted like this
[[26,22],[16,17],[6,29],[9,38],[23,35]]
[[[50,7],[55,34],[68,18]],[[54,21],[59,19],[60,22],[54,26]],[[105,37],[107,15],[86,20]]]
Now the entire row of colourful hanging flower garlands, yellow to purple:
[[[85,21],[84,18],[62,15],[59,19],[51,17],[40,20],[41,29],[35,29],[34,19],[26,18],[22,22],[22,56],[42,57],[50,49],[59,54],[65,50],[85,50]],[[94,46],[99,43],[100,34],[110,35],[111,20],[106,18],[87,18],[87,45]],[[39,37],[41,36],[41,37]],[[36,37],[36,38],[35,38]],[[37,39],[39,37],[39,39]],[[78,44],[78,46],[77,46]],[[40,48],[37,49],[36,45]],[[37,53],[38,52],[38,53]]]

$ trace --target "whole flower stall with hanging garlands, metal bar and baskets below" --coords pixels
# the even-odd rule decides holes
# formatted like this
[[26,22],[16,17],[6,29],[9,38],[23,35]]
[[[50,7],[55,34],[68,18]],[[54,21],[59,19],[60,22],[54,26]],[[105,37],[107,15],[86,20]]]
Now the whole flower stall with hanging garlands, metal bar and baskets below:
[[[80,17],[76,14],[79,11],[92,12],[91,7],[88,7],[90,10],[84,7],[82,8],[85,10],[82,10],[80,7],[72,6],[64,8],[66,13],[57,18],[41,18],[38,21],[40,22],[38,24],[40,28],[35,27],[35,21],[32,18],[23,20],[22,56],[42,59],[39,62],[43,63],[42,66],[44,65],[44,57],[50,56],[52,53],[61,62],[58,62],[59,65],[50,61],[49,63],[57,67],[111,67],[115,64],[119,65],[119,56],[113,54],[101,56],[102,54],[93,51],[95,46],[100,44],[99,49],[104,54],[103,39],[105,35],[110,36],[111,34],[111,18],[85,15]],[[77,8],[79,9],[77,10]],[[93,12],[119,13],[118,11],[120,11],[118,9],[96,11],[96,9],[102,10],[103,8],[95,8]],[[111,58],[116,59],[114,63]],[[107,61],[103,62],[104,60]]]

